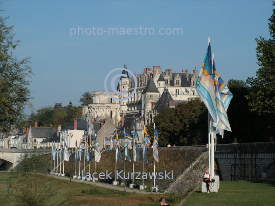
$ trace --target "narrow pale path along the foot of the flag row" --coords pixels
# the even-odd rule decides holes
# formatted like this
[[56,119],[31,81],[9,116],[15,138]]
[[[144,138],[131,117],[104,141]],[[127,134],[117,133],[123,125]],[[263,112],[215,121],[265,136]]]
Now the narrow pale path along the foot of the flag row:
[[[50,175],[50,176],[52,176],[52,178],[70,181],[70,178],[68,176],[56,176],[56,175]],[[72,181],[80,183],[80,180],[72,179]],[[94,184],[93,182],[86,181],[86,180],[84,180],[81,183],[90,184],[90,185]],[[108,188],[108,189],[113,189],[113,190],[124,191],[124,187],[114,186],[114,185],[107,184],[107,183],[95,182],[94,185],[96,185],[98,187],[103,187],[103,188]],[[142,190],[138,190],[138,189],[129,189],[127,187],[126,187],[126,192],[132,192],[132,193],[135,192],[135,193],[140,193],[140,194],[156,194],[156,192],[146,192],[146,191],[142,191]],[[157,194],[164,194],[164,193],[158,192]]]

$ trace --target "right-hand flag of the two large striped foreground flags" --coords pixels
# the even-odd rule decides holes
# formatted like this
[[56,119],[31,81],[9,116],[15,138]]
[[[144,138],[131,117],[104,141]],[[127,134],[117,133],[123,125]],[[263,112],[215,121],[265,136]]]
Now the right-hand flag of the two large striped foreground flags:
[[233,98],[223,79],[216,71],[215,62],[213,62],[214,80],[215,80],[215,94],[217,107],[217,121],[214,122],[213,127],[221,128],[231,131],[229,120],[227,117],[227,108]]

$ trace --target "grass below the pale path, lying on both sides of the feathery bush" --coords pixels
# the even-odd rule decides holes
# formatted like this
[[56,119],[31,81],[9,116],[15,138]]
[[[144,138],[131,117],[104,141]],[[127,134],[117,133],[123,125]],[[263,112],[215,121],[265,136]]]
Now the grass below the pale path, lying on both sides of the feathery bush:
[[[7,197],[6,181],[9,172],[0,172],[0,205],[16,205],[12,198]],[[157,201],[160,194],[137,194],[107,188],[92,187],[85,183],[76,183],[56,179],[53,189],[57,191],[49,205],[144,205]]]

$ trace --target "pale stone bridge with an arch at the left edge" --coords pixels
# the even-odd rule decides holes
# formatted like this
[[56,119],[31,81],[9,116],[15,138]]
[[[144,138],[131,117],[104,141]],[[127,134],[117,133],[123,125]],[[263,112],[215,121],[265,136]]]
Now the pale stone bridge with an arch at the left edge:
[[43,153],[44,155],[51,153],[51,149],[0,149],[0,170],[13,169],[24,153],[33,153],[34,151]]

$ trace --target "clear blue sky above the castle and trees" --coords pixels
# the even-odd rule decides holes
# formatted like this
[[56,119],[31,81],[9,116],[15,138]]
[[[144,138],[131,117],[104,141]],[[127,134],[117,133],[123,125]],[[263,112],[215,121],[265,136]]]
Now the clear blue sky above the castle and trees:
[[[208,37],[225,82],[255,76],[255,38],[269,38],[273,9],[266,0],[4,0],[0,6],[1,15],[10,16],[6,23],[14,25],[15,39],[22,41],[15,55],[31,57],[34,111],[70,100],[80,105],[84,92],[104,90],[105,76],[123,67],[125,56],[133,73],[143,73],[145,66],[200,70]],[[109,28],[118,28],[118,35]],[[173,35],[173,28],[182,32]]]

